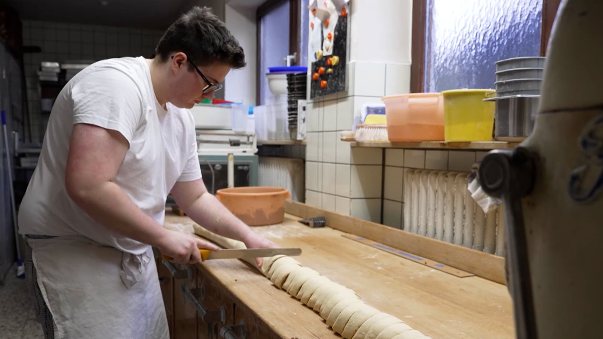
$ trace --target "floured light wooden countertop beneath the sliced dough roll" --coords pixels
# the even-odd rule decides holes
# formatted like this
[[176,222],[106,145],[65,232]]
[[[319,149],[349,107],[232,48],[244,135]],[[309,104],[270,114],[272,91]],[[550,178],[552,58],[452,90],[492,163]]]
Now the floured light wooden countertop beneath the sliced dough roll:
[[[166,213],[166,223],[192,225]],[[458,278],[342,237],[332,228],[309,228],[286,214],[280,225],[254,227],[283,247],[301,247],[303,266],[352,288],[369,305],[393,314],[433,339],[514,338],[507,287],[478,276]],[[323,319],[239,260],[197,264],[250,307],[283,338],[341,338]]]

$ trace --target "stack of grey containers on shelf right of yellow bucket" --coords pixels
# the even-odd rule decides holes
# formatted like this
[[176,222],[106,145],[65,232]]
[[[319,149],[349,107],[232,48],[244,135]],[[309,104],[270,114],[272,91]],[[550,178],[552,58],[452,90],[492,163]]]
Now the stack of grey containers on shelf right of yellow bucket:
[[545,69],[544,57],[519,57],[496,62],[494,138],[520,141],[534,130]]

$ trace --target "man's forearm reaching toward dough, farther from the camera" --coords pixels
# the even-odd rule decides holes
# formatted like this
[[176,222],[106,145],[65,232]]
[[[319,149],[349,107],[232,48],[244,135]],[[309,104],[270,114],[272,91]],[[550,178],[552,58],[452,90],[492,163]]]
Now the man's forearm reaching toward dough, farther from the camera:
[[203,193],[191,205],[182,207],[194,222],[223,237],[245,241],[253,231],[235,217],[210,193]]

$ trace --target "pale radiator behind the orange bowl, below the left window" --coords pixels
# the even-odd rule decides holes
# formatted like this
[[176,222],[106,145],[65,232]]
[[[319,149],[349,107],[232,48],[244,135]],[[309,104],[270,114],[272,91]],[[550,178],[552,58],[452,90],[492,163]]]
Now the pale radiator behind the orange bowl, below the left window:
[[293,201],[305,201],[305,165],[303,159],[260,157],[257,182],[260,186],[283,187]]

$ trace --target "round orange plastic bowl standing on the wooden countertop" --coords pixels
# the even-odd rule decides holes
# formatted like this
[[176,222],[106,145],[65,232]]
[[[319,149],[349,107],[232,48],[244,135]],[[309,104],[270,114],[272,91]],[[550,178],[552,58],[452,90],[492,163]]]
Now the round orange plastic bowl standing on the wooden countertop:
[[281,187],[233,187],[216,192],[216,197],[232,214],[249,226],[282,223],[285,200],[291,197]]

